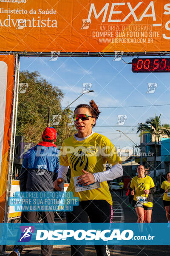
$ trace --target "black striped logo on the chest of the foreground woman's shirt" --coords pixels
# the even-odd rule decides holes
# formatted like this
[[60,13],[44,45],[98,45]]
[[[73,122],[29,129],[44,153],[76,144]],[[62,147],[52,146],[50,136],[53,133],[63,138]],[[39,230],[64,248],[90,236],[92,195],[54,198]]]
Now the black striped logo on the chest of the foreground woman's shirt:
[[88,157],[85,155],[84,152],[79,150],[77,153],[73,153],[71,155],[71,167],[77,172],[77,166],[81,167],[85,164],[84,169],[85,171],[88,169]]

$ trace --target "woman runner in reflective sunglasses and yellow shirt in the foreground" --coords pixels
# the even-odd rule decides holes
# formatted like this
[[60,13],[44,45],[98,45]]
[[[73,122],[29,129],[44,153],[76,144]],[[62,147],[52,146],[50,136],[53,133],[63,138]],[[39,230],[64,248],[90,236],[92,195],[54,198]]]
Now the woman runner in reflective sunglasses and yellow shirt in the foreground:
[[[59,173],[54,187],[61,190],[59,184],[70,166],[71,180],[67,191],[79,197],[79,206],[74,206],[72,212],[66,212],[67,222],[88,223],[89,217],[91,222],[110,223],[113,210],[107,180],[121,177],[122,165],[110,140],[92,131],[100,111],[93,100],[89,103],[80,104],[74,110],[74,125],[78,133],[62,143]],[[106,171],[107,162],[112,168]],[[106,245],[95,245],[95,248],[98,256],[110,255]],[[71,245],[71,256],[83,256],[84,253],[85,245]]]

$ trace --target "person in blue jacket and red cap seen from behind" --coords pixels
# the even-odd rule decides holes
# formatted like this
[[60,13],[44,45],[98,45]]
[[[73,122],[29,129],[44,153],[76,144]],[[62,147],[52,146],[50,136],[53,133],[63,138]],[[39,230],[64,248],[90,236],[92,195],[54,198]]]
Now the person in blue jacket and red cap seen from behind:
[[[54,180],[59,169],[59,151],[54,144],[57,131],[47,127],[42,142],[30,148],[24,157],[20,173],[20,191],[54,191]],[[54,222],[54,212],[22,212],[22,223],[38,222],[41,216],[45,223]],[[24,245],[15,245],[9,256],[20,256]],[[41,245],[41,256],[51,256],[53,245]]]

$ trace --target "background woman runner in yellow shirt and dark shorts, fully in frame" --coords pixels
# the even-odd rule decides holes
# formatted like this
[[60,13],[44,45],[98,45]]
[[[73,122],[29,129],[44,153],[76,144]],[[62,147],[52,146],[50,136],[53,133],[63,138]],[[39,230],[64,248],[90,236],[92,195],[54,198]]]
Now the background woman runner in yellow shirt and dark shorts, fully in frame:
[[137,222],[151,221],[153,209],[153,193],[156,191],[153,179],[145,174],[143,165],[137,168],[138,175],[132,178],[130,183],[131,195],[133,195],[133,207],[138,215]]

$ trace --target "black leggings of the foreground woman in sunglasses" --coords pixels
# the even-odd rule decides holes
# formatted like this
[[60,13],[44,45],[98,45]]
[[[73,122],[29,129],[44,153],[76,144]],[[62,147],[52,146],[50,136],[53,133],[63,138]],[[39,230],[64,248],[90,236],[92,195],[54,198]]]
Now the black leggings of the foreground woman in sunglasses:
[[[70,223],[91,223],[112,222],[112,206],[105,200],[88,200],[79,202],[79,206],[74,206],[72,212],[66,213],[67,222]],[[110,256],[107,245],[95,245],[97,256]],[[83,256],[85,245],[71,245],[71,256]]]

